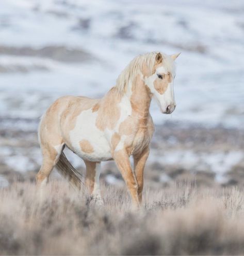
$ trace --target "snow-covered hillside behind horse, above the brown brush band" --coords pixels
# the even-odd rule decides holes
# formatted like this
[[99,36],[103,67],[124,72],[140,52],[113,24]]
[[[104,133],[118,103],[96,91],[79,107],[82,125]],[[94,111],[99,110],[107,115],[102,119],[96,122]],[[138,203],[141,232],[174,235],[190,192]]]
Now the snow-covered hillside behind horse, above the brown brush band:
[[182,52],[168,119],[244,124],[244,2],[2,0],[0,115],[36,118],[60,95],[101,97],[137,54]]

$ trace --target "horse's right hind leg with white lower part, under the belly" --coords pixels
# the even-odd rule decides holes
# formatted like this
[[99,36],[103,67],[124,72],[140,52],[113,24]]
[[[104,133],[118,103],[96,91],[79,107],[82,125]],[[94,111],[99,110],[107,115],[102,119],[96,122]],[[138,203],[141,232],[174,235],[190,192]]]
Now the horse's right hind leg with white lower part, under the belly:
[[86,164],[86,187],[91,193],[91,199],[98,204],[103,204],[103,199],[100,194],[100,173],[101,162],[91,162],[84,160]]

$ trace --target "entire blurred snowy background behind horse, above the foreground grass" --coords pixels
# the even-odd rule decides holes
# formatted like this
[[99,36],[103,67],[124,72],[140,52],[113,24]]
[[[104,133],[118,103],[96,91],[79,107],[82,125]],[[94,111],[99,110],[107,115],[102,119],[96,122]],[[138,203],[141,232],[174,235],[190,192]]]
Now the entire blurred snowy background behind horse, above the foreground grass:
[[[181,52],[171,115],[156,132],[148,186],[244,184],[244,2],[2,0],[0,186],[34,180],[39,118],[62,95],[102,97],[138,54]],[[84,172],[81,159],[66,152]],[[57,173],[53,173],[55,178]],[[123,186],[113,162],[103,181]]]

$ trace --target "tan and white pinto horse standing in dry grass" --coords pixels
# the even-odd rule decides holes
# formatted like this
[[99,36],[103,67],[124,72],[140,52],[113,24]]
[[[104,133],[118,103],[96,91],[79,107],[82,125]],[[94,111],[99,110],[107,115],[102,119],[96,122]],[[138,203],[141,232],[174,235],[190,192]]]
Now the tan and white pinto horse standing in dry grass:
[[[180,55],[151,52],[135,57],[121,72],[116,85],[101,99],[63,96],[41,117],[38,137],[42,165],[36,175],[45,185],[56,165],[60,174],[80,190],[84,185],[91,198],[103,204],[100,194],[101,162],[114,160],[131,194],[133,205],[142,202],[143,172],[149,156],[154,124],[149,112],[152,97],[162,113],[176,104],[173,82],[175,59]],[[86,165],[85,184],[66,156],[64,147]],[[129,157],[133,156],[134,167]]]

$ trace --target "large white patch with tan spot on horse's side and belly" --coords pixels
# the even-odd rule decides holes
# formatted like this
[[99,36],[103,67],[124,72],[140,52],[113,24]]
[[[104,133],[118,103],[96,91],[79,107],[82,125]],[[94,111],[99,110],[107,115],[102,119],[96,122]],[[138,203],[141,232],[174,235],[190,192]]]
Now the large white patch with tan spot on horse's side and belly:
[[80,113],[69,133],[71,149],[85,160],[107,161],[112,158],[111,149],[104,132],[96,127],[96,116],[91,110]]

